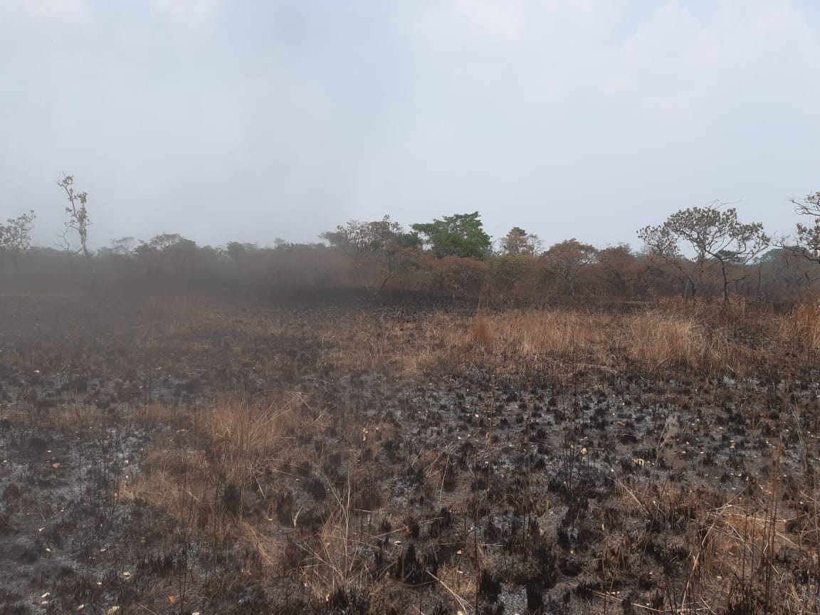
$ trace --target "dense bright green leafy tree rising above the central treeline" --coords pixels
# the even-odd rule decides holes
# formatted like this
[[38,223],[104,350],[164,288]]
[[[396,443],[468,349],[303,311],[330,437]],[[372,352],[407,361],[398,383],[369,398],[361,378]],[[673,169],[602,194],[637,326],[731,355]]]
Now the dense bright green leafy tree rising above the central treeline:
[[490,235],[484,232],[479,212],[444,216],[411,228],[430,245],[437,258],[457,256],[484,260],[490,253]]

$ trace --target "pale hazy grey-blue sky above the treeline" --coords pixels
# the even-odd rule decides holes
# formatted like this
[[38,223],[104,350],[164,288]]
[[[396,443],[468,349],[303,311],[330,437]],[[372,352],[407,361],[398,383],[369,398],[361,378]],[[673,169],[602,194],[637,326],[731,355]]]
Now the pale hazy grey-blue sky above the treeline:
[[0,219],[98,247],[481,212],[604,246],[820,190],[816,0],[0,0]]

